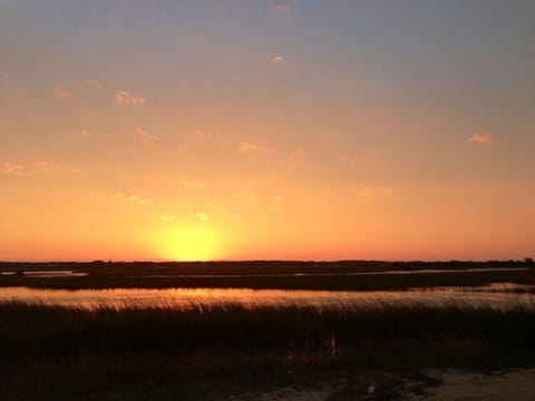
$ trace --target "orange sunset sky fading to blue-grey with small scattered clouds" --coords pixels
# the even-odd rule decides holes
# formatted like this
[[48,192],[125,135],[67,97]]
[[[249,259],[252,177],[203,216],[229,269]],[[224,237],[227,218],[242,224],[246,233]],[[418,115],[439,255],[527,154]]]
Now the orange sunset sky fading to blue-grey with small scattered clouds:
[[0,260],[535,256],[533,0],[0,0]]

